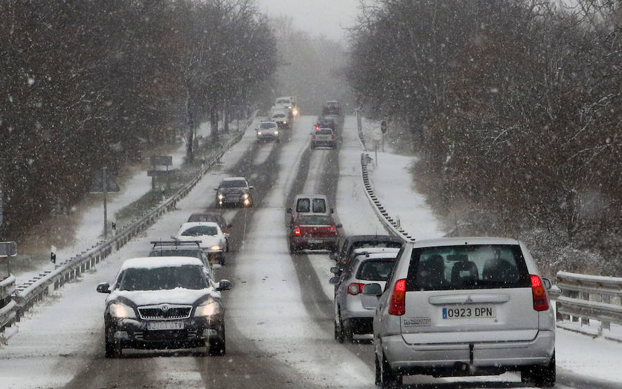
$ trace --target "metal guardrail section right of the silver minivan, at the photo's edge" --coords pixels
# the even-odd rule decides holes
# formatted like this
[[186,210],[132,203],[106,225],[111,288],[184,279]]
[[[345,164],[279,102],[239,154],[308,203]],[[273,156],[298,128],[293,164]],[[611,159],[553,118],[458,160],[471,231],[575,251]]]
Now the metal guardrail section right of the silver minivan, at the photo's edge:
[[599,334],[611,323],[622,325],[622,278],[557,272],[556,290],[549,293],[557,305],[557,321],[599,321]]

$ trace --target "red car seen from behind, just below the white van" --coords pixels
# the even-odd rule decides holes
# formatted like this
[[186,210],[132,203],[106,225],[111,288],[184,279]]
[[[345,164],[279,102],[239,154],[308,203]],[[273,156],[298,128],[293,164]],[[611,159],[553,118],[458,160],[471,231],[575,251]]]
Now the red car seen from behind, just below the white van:
[[301,214],[290,227],[290,253],[303,249],[337,251],[338,228],[328,215]]

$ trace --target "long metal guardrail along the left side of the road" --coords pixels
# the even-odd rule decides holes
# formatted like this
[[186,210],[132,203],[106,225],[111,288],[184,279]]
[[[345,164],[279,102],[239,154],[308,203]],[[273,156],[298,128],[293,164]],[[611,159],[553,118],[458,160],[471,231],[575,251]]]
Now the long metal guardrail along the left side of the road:
[[[250,125],[249,122],[247,122],[247,127]],[[112,254],[113,250],[116,251],[120,249],[129,243],[133,237],[146,231],[160,216],[175,209],[177,203],[187,196],[214,164],[220,161],[223,154],[242,139],[244,132],[245,131],[239,131],[236,136],[223,144],[220,150],[212,153],[211,156],[205,160],[205,164],[200,171],[198,171],[196,176],[173,196],[161,202],[160,205],[153,207],[150,211],[145,212],[138,220],[124,225],[120,231],[117,231],[115,236],[109,240],[101,241],[97,243],[97,245],[93,245],[90,250],[70,258],[64,261],[64,263],[59,263],[53,271],[43,272],[27,283],[15,287],[15,292],[11,294],[12,301],[0,309],[0,332],[3,332],[6,327],[12,325],[15,321],[19,321],[25,312],[35,305],[35,303],[46,298],[50,292],[57,290],[69,281],[73,281],[77,276],[91,269],[97,265],[97,263],[100,263],[101,260],[104,260]],[[12,285],[15,286],[15,277],[11,277]],[[7,283],[7,280],[2,281],[2,283]],[[3,285],[2,283],[0,283],[0,285]]]

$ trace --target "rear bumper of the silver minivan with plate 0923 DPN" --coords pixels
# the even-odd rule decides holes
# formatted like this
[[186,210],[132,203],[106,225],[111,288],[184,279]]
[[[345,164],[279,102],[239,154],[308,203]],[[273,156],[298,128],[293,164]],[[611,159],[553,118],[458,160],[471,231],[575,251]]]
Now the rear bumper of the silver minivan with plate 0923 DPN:
[[[471,344],[473,352],[471,355]],[[520,366],[549,363],[555,347],[554,331],[539,331],[531,341],[409,345],[401,334],[382,338],[381,348],[391,368],[403,374],[464,375],[518,370]],[[464,366],[468,366],[464,370]]]

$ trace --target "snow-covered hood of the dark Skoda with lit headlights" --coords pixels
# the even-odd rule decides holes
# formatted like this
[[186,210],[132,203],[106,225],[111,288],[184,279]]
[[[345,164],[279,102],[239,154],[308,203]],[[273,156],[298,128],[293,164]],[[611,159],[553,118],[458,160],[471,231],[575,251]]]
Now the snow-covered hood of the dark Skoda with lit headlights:
[[198,290],[183,287],[169,290],[113,290],[108,299],[127,298],[138,306],[164,303],[193,305],[199,298],[206,296],[220,298],[220,292],[211,287]]

